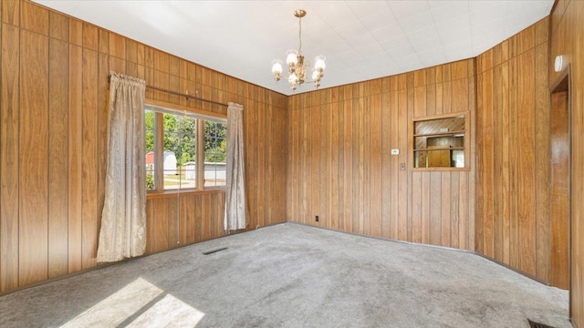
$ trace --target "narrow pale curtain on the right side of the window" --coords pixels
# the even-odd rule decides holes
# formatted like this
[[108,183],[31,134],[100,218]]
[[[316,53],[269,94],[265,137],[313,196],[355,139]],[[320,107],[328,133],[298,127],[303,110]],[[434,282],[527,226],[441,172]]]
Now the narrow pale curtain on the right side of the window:
[[229,103],[227,108],[227,186],[224,229],[235,231],[247,226],[244,165],[244,108]]

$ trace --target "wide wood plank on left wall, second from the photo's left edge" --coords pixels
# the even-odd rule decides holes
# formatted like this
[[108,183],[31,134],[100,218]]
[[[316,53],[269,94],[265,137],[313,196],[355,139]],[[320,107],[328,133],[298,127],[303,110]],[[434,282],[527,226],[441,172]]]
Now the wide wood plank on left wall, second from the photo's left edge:
[[26,30],[20,37],[18,283],[25,285],[47,279],[48,37]]

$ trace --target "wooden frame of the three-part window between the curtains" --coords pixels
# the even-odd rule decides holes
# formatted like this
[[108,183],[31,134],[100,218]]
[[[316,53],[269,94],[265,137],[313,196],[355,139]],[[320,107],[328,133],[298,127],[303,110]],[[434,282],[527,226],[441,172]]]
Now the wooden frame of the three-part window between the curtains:
[[[222,113],[214,113],[206,110],[195,108],[188,108],[182,105],[171,104],[159,100],[146,98],[144,111],[151,110],[154,112],[154,166],[155,168],[162,168],[164,151],[164,132],[163,132],[163,115],[164,113],[181,115],[196,118],[196,154],[195,160],[197,163],[204,163],[204,122],[213,121],[217,123],[227,124],[227,115]],[[202,149],[202,150],[200,150]],[[194,188],[177,188],[172,190],[164,190],[164,175],[163,169],[154,169],[154,189],[146,190],[147,199],[164,197],[165,195],[176,195],[185,193],[201,193],[201,192],[224,192],[225,186],[204,186],[204,165],[196,165],[195,171],[195,187]],[[146,177],[144,177],[145,179]],[[162,183],[161,183],[162,182]]]

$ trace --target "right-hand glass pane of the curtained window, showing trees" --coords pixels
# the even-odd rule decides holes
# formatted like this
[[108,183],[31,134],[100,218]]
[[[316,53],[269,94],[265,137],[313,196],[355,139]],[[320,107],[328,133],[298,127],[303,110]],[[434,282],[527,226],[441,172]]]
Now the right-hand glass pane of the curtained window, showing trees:
[[204,122],[204,185],[224,186],[227,124]]

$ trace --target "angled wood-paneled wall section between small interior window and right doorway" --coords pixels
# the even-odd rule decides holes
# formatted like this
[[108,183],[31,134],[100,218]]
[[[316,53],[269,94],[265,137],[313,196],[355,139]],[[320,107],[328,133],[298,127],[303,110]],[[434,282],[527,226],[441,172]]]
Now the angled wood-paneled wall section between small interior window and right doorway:
[[549,282],[547,18],[477,56],[476,251]]

